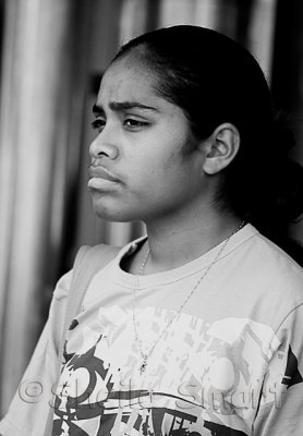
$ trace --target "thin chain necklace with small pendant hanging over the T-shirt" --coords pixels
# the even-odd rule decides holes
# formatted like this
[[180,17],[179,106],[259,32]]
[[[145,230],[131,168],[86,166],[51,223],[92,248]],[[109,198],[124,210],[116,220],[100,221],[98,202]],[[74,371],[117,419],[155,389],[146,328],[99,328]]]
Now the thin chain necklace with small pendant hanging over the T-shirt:
[[192,298],[192,295],[194,294],[194,292],[196,291],[196,289],[198,288],[199,283],[205,279],[205,277],[208,275],[208,272],[210,271],[210,269],[213,268],[213,266],[219,261],[221,254],[223,253],[227,244],[229,243],[231,237],[233,237],[237,232],[239,232],[239,230],[241,230],[244,226],[245,226],[245,221],[242,221],[241,225],[233,230],[230,235],[223,241],[220,250],[218,251],[217,255],[215,256],[214,261],[207,266],[207,268],[205,269],[205,271],[203,272],[203,275],[198,278],[198,280],[196,281],[196,283],[193,286],[193,288],[191,289],[191,291],[187,293],[187,295],[185,296],[185,299],[183,300],[182,304],[180,305],[179,310],[174,313],[174,315],[170,318],[170,320],[167,323],[166,327],[163,328],[163,330],[159,334],[159,336],[153,341],[153,343],[150,344],[150,347],[144,351],[143,349],[143,343],[142,340],[140,338],[138,335],[138,322],[136,319],[136,307],[137,307],[137,290],[138,290],[138,278],[140,276],[143,275],[144,272],[144,268],[146,266],[150,250],[149,247],[146,251],[146,254],[144,256],[144,259],[140,266],[138,272],[136,275],[136,284],[134,287],[134,292],[133,292],[133,325],[134,325],[134,332],[135,332],[135,343],[136,347],[138,349],[138,352],[141,354],[142,358],[142,362],[140,365],[140,373],[141,375],[143,375],[143,373],[146,371],[146,367],[148,365],[148,359],[150,358],[153,351],[155,350],[155,347],[159,343],[159,341],[162,339],[163,335],[170,329],[172,323],[175,320],[175,318],[181,314],[181,312],[183,311],[185,304],[189,302],[189,300]]

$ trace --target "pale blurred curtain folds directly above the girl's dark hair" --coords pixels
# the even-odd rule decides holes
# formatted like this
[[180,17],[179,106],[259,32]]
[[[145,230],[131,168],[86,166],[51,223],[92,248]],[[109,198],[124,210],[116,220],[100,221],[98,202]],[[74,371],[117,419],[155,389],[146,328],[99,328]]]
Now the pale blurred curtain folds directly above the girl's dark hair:
[[159,26],[194,24],[239,40],[270,78],[276,0],[162,0]]

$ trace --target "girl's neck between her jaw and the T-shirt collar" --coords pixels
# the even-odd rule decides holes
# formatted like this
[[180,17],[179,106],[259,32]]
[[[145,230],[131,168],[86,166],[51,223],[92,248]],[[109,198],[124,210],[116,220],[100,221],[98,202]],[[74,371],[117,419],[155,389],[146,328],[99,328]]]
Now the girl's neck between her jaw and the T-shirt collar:
[[[146,222],[149,256],[144,274],[155,274],[177,268],[207,253],[227,239],[241,223],[232,215],[204,210],[193,217],[175,217]],[[143,246],[134,269],[144,258]]]

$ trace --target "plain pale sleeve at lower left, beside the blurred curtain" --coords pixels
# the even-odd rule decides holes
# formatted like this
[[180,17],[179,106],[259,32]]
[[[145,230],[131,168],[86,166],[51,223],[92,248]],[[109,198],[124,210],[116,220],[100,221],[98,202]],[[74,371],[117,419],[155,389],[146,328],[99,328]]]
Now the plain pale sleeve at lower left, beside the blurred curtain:
[[57,283],[49,317],[10,409],[0,422],[2,436],[41,436],[58,376],[58,356],[72,271]]

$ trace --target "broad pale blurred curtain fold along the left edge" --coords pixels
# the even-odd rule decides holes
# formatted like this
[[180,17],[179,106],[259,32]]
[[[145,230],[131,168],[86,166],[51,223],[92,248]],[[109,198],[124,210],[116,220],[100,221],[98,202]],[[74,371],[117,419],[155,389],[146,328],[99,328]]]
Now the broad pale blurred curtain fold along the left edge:
[[72,3],[5,2],[0,116],[2,410],[36,342],[45,278],[54,269],[62,231]]

